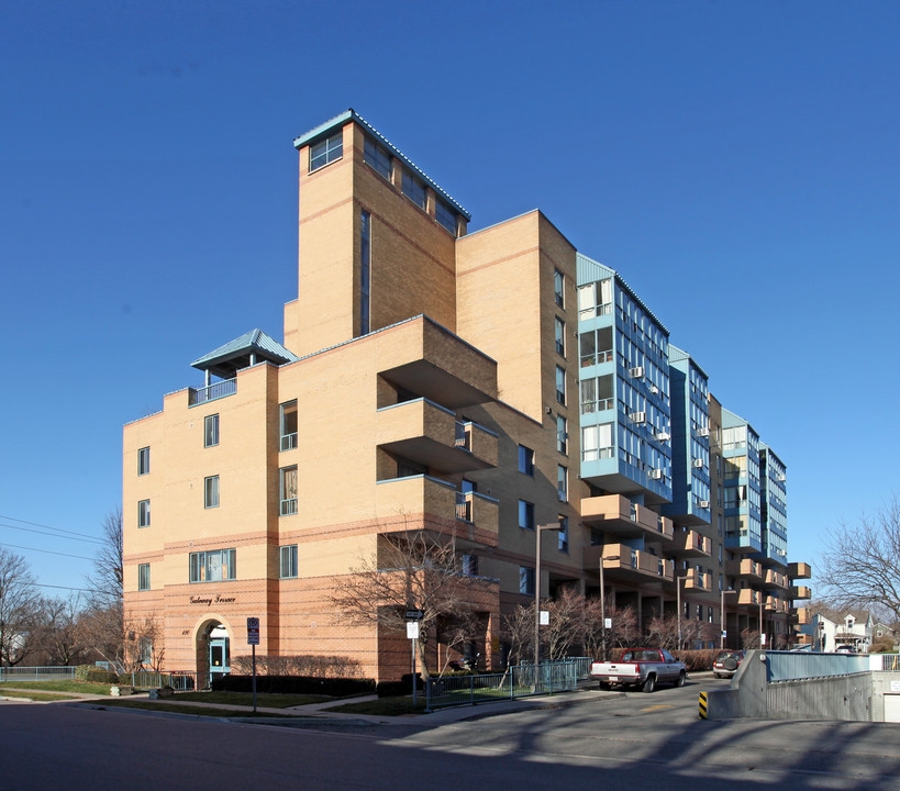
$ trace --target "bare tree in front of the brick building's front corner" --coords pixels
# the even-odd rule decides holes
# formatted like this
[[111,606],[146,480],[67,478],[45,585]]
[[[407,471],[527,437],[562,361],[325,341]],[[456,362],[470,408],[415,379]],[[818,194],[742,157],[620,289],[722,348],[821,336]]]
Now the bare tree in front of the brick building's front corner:
[[364,558],[336,581],[332,603],[353,623],[377,624],[405,635],[405,611],[421,610],[416,655],[430,678],[426,645],[444,621],[471,623],[473,597],[487,580],[462,573],[462,558],[451,541],[425,531],[381,536],[376,557]]

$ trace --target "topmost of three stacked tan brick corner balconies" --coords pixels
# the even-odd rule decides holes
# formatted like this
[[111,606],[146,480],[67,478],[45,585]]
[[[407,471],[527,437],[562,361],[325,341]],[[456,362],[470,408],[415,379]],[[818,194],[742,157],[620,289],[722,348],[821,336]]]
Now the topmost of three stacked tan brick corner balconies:
[[378,332],[379,375],[448,409],[497,398],[497,363],[426,316]]

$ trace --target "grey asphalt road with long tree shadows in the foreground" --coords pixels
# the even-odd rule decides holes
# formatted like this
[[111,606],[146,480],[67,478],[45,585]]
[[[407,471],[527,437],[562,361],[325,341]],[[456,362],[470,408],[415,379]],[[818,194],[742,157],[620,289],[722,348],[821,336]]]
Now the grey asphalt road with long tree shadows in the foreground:
[[699,720],[726,683],[325,731],[2,703],[0,791],[900,789],[900,725]]

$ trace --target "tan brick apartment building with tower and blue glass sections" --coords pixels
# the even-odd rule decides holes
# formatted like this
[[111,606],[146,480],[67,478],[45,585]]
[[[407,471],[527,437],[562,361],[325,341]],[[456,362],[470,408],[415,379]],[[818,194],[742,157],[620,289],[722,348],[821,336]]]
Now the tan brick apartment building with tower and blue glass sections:
[[[416,531],[455,542],[481,580],[469,605],[489,667],[502,616],[535,588],[604,589],[642,623],[684,594],[685,616],[713,623],[740,578],[723,576],[729,542],[785,568],[784,465],[754,446],[755,543],[740,522],[713,543],[716,517],[722,536],[721,517],[743,514],[716,511],[714,487],[743,479],[711,471],[707,375],[616,272],[540,211],[469,232],[463,205],[353,110],[295,146],[282,339],[252,330],[203,354],[202,385],[124,428],[126,619],[148,657],[227,672],[254,616],[260,654],[397,678],[405,635],[348,623],[331,594]],[[429,642],[434,661],[451,650]]]

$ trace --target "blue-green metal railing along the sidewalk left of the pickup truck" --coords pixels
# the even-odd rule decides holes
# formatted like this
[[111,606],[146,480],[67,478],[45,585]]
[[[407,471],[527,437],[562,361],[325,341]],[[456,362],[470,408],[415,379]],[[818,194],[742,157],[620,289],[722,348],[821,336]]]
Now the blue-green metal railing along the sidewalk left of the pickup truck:
[[498,700],[569,692],[590,675],[592,659],[576,657],[555,662],[514,665],[502,673],[445,676],[425,682],[427,710],[449,705],[475,705]]

